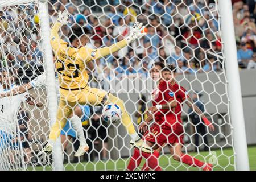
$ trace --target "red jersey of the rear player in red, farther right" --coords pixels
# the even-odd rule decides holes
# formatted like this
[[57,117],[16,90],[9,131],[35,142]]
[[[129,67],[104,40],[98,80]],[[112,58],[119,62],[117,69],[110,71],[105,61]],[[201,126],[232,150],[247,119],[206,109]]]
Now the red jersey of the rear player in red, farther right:
[[175,93],[175,98],[177,101],[177,106],[175,107],[175,114],[177,116],[177,120],[181,122],[181,107],[183,106],[183,103],[187,98],[189,97],[188,92],[186,89],[184,89],[182,86],[179,86],[176,82],[174,85],[170,84],[170,87],[172,88],[173,92]]

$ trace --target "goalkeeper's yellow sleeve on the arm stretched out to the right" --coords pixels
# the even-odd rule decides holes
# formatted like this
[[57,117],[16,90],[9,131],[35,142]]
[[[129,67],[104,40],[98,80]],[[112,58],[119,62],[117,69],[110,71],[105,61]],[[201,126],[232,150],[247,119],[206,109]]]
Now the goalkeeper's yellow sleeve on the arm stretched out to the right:
[[100,59],[110,55],[111,53],[117,52],[123,47],[127,46],[127,40],[121,40],[118,43],[113,44],[109,47],[104,47],[100,49],[92,49],[88,47],[82,47],[79,49],[80,59],[84,60],[85,63],[91,60]]

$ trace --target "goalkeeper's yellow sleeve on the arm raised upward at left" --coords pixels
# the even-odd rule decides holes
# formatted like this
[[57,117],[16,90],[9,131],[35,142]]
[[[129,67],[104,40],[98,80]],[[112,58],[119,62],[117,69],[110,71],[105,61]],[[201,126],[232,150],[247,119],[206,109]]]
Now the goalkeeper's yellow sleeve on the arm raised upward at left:
[[67,44],[64,40],[60,39],[60,36],[58,34],[60,30],[61,23],[56,22],[53,24],[53,27],[51,29],[51,46],[53,51],[58,51],[60,49],[60,44]]

